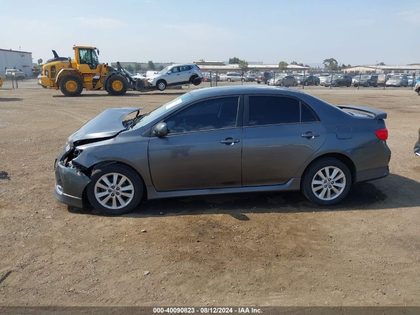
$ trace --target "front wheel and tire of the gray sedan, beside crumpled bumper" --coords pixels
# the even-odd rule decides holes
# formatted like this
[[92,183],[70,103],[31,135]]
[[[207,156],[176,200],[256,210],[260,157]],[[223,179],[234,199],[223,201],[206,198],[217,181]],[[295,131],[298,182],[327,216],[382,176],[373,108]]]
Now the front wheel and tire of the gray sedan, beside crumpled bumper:
[[93,170],[90,180],[87,198],[96,210],[106,214],[118,215],[133,210],[143,195],[140,176],[124,164],[98,167]]

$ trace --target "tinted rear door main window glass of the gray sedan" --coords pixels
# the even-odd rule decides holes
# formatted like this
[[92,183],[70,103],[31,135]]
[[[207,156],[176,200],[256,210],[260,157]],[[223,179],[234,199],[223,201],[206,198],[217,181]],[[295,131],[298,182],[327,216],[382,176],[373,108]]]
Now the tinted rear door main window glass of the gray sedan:
[[300,122],[299,101],[283,97],[249,97],[249,126],[294,122]]

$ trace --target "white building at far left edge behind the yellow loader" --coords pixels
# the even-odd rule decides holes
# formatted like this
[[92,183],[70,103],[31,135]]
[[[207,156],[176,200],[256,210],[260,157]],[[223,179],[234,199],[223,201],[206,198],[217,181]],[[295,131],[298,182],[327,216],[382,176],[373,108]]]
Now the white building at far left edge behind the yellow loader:
[[0,75],[4,77],[5,69],[17,69],[28,77],[32,75],[32,53],[11,49],[0,49]]

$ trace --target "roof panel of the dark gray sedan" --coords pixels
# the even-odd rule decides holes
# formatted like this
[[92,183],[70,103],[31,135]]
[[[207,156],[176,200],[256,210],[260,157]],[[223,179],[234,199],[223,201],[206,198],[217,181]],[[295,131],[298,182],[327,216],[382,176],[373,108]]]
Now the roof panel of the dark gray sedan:
[[306,93],[291,90],[289,88],[265,87],[265,86],[229,86],[197,89],[189,92],[197,99],[211,98],[216,96],[238,95],[238,94],[279,94],[288,96],[306,95]]

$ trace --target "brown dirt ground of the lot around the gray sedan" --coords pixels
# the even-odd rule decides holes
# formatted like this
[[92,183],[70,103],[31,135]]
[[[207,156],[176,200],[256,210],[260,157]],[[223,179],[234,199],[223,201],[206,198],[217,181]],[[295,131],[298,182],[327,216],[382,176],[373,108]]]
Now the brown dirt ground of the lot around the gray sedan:
[[182,91],[66,98],[35,80],[8,84],[0,90],[0,305],[420,305],[414,91],[305,88],[335,105],[388,112],[391,174],[355,185],[339,206],[315,207],[300,193],[238,194],[151,201],[112,217],[55,200],[55,157],[105,108],[150,110]]

